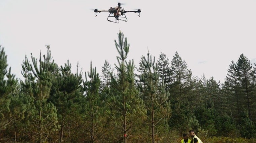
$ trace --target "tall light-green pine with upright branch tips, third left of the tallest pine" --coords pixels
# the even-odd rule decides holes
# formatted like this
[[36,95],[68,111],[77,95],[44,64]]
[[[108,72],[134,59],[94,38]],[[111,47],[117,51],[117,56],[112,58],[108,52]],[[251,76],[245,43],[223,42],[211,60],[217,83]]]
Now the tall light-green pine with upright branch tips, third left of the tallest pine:
[[32,73],[35,81],[31,81],[32,87],[32,109],[30,110],[31,131],[36,135],[37,142],[45,142],[52,135],[52,132],[58,130],[57,109],[52,102],[47,102],[52,87],[53,75],[57,72],[58,66],[52,61],[50,46],[46,46],[47,55],[43,59],[37,59],[32,54]]

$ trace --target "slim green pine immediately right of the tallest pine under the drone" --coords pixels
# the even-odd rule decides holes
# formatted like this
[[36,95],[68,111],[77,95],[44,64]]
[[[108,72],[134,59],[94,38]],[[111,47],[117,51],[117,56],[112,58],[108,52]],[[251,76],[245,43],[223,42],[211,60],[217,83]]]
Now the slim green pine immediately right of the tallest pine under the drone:
[[167,123],[165,119],[170,115],[169,103],[167,101],[169,94],[165,91],[164,81],[161,84],[159,83],[155,58],[152,60],[148,53],[147,59],[144,57],[142,64],[147,69],[145,70],[147,72],[140,75],[141,84],[139,84],[139,87],[148,113],[146,124],[151,129],[152,142],[155,143],[157,127]]

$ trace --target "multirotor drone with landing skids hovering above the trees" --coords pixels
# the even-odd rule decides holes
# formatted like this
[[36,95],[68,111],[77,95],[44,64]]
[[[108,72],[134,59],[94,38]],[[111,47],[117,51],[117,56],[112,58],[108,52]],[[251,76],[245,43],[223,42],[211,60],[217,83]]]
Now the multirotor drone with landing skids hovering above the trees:
[[[120,2],[117,5],[118,6],[116,6],[116,7],[110,7],[110,9],[108,9],[108,10],[94,9],[95,16],[97,16],[97,12],[109,12],[109,15],[107,17],[107,21],[119,23],[119,20],[122,20],[122,21],[127,21],[128,20],[126,15],[125,15],[126,12],[135,12],[135,13],[140,13],[141,12],[140,9],[138,9],[136,11],[126,11],[126,10],[124,10],[124,8],[122,9]],[[140,15],[138,15],[138,16],[140,17]],[[114,18],[111,18],[111,17],[114,17]],[[114,19],[114,21],[112,21],[112,19]]]

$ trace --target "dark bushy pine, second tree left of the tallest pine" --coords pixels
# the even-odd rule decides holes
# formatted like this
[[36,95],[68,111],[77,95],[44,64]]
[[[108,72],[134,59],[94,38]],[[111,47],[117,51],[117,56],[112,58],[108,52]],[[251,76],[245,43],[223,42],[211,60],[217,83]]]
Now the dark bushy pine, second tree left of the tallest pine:
[[52,82],[49,100],[57,108],[60,125],[59,141],[63,142],[67,124],[76,123],[76,118],[79,118],[79,102],[77,100],[83,97],[82,74],[78,73],[78,69],[76,74],[71,73],[71,64],[67,61],[64,66],[60,66],[60,72],[55,75],[55,80]]

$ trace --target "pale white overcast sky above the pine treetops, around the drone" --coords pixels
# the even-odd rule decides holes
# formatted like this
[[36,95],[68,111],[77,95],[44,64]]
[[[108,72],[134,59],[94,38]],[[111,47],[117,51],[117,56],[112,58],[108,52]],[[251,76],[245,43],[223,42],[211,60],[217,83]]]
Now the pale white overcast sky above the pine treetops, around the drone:
[[[106,20],[108,10],[125,3],[127,22]],[[158,59],[162,51],[171,59],[175,51],[192,70],[193,76],[224,81],[231,60],[240,54],[256,63],[255,0],[0,0],[0,45],[9,66],[22,78],[21,64],[30,53],[39,58],[51,45],[58,65],[69,61],[87,72],[90,61],[101,73],[107,60],[117,63],[114,40],[121,30],[130,43],[128,59],[138,66],[140,57],[150,53]]]

